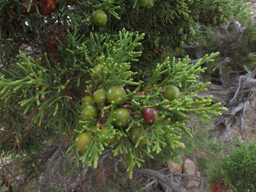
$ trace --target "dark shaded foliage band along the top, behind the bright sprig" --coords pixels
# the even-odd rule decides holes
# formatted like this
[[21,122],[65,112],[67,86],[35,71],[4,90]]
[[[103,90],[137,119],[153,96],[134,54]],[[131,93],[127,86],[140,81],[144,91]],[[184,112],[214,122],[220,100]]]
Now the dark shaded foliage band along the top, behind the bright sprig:
[[[163,57],[166,54],[182,52],[182,46],[178,46],[180,38],[176,33],[177,28],[183,28],[183,33],[195,44],[201,43],[202,36],[197,30],[197,25],[208,22],[210,17],[222,16],[227,18],[232,15],[232,10],[237,5],[237,3],[229,0],[194,1],[192,5],[189,5],[187,1],[169,0],[166,2],[155,1],[151,9],[133,8],[138,3],[138,0],[133,2],[118,0],[106,2],[76,1],[75,4],[68,4],[60,0],[56,12],[44,17],[43,20],[40,14],[24,12],[25,5],[18,0],[2,1],[0,37],[5,46],[1,46],[1,51],[4,50],[5,52],[5,61],[11,62],[10,59],[15,58],[18,54],[17,50],[22,45],[22,41],[38,44],[42,46],[43,52],[45,52],[47,48],[51,49],[51,42],[47,40],[49,33],[58,34],[65,28],[73,30],[77,26],[88,26],[87,32],[80,31],[81,35],[85,34],[85,36],[89,36],[88,32],[90,31],[95,33],[107,32],[115,36],[118,31],[126,28],[145,33],[145,38],[141,43],[146,48],[144,51],[146,54],[143,56],[146,60],[142,64],[148,66],[147,63],[152,57]],[[28,7],[30,5],[29,3]],[[221,11],[215,11],[216,7],[221,7]],[[38,12],[37,5],[36,9]],[[108,15],[108,22],[104,29],[93,25],[91,21],[92,13],[98,9],[102,9]],[[239,17],[237,16],[238,19],[246,17],[248,11],[243,11]],[[228,20],[237,20],[237,18],[232,17]],[[124,20],[127,22],[123,22]],[[48,21],[48,23],[44,21]],[[54,21],[63,23],[63,26],[59,24],[54,26]],[[225,20],[221,20],[218,21],[218,24],[224,22]],[[7,40],[10,36],[14,41]],[[41,39],[41,42],[37,41],[38,38]],[[175,49],[177,46],[178,49]]]

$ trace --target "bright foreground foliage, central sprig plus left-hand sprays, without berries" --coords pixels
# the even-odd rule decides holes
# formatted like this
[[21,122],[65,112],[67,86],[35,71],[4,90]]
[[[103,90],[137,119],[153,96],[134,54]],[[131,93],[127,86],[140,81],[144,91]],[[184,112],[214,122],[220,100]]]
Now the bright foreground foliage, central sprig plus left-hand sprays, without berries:
[[[221,103],[211,105],[212,96],[205,99],[197,95],[206,91],[210,83],[196,84],[196,74],[204,72],[206,68],[201,68],[201,65],[213,61],[212,58],[218,53],[205,55],[196,64],[188,64],[188,57],[177,63],[174,58],[169,60],[167,57],[162,64],[156,65],[148,85],[142,91],[141,81],[133,81],[132,76],[137,72],[130,71],[130,62],[138,61],[141,52],[134,52],[134,49],[140,45],[139,41],[143,40],[144,34],[138,35],[123,29],[116,36],[116,41],[111,40],[110,36],[98,37],[91,34],[91,40],[84,44],[81,43],[82,37],[76,36],[76,31],[66,36],[67,45],[60,42],[59,50],[64,61],[62,65],[53,65],[45,54],[46,66],[43,67],[41,59],[35,61],[20,52],[23,61],[2,69],[6,75],[1,77],[0,96],[4,101],[2,107],[17,110],[23,116],[29,115],[31,121],[38,126],[44,124],[45,128],[57,127],[60,133],[71,134],[71,141],[75,140],[77,133],[86,131],[93,134],[86,153],[81,157],[75,153],[77,161],[81,160],[84,166],[93,164],[96,168],[100,154],[108,146],[105,140],[117,136],[110,147],[114,148],[114,156],[118,153],[125,155],[124,163],[128,164],[127,171],[131,178],[133,167],[141,166],[144,155],[153,158],[167,145],[172,149],[185,147],[179,141],[182,132],[192,137],[189,128],[185,126],[191,118],[185,113],[210,118],[208,114],[220,116],[219,111],[226,110],[220,107]],[[102,75],[94,71],[94,67],[99,64]],[[163,97],[163,88],[169,84],[178,84],[183,89],[180,97],[171,102]],[[84,92],[79,91],[80,85],[86,88]],[[82,108],[77,97],[82,99],[85,94],[92,97],[97,89],[108,90],[112,86],[125,88],[127,95],[124,103],[119,106],[118,99],[98,104],[98,118],[88,115],[89,120],[81,121]],[[75,91],[72,93],[70,90]],[[113,118],[114,111],[117,108],[124,108],[131,115],[130,123],[124,128],[113,126],[116,121]],[[147,124],[142,116],[145,108],[154,108],[159,112],[159,118],[156,112],[152,114],[155,119],[152,125]],[[31,111],[33,114],[29,113]],[[88,128],[91,124],[97,124],[96,130]],[[109,131],[102,137],[100,130],[105,126],[109,127]],[[132,143],[129,132],[136,127],[141,129],[141,134],[136,143]],[[143,140],[145,146],[140,145]],[[74,150],[75,143],[68,152]]]

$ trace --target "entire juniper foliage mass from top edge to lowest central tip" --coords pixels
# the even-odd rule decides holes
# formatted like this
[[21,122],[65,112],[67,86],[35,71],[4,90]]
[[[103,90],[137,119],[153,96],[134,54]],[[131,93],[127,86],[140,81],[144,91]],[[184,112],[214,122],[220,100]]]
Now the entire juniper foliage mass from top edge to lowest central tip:
[[[213,96],[198,95],[210,82],[197,83],[197,74],[218,52],[191,64],[188,56],[178,61],[173,56],[184,56],[186,38],[188,45],[204,43],[199,25],[248,17],[245,7],[232,15],[233,1],[189,2],[149,0],[150,8],[138,0],[59,0],[56,11],[42,15],[41,5],[32,0],[0,0],[1,156],[34,153],[57,138],[84,167],[96,168],[105,148],[113,148],[114,156],[123,155],[131,178],[134,166],[146,158],[186,150],[182,139],[192,137],[188,114],[209,119],[227,109],[212,103]],[[30,12],[33,6],[36,13]],[[105,26],[92,21],[99,9],[107,15]],[[181,94],[167,100],[167,85]],[[124,90],[123,97],[115,92],[108,99],[114,86]],[[94,93],[99,89],[107,93],[98,104]],[[84,105],[85,96],[93,101]],[[151,112],[144,115],[147,108]],[[108,131],[102,133],[104,127]],[[76,138],[84,132],[93,138],[81,155]]]

